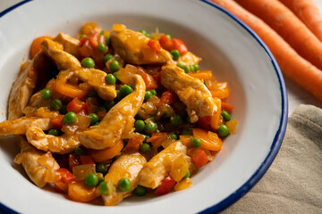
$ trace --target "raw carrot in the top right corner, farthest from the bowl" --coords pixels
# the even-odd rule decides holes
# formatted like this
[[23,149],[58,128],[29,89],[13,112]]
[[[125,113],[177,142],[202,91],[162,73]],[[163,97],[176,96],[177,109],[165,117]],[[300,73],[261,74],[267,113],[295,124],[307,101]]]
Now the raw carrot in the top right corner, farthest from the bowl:
[[322,15],[313,0],[280,0],[322,42]]

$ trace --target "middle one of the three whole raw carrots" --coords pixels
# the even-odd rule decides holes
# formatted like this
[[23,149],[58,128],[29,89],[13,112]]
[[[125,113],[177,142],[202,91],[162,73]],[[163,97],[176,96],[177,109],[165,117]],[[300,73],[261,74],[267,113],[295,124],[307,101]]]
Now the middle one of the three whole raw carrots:
[[297,53],[322,69],[322,43],[278,0],[235,0],[243,8],[265,21]]

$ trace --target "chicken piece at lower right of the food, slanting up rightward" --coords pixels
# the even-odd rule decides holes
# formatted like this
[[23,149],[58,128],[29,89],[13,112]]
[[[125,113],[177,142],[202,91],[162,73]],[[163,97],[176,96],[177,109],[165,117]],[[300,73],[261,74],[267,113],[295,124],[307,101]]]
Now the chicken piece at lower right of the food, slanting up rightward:
[[150,161],[144,164],[139,173],[138,185],[155,189],[165,176],[171,171],[172,163],[180,156],[187,156],[187,147],[180,141],[169,145],[165,150],[157,153]]

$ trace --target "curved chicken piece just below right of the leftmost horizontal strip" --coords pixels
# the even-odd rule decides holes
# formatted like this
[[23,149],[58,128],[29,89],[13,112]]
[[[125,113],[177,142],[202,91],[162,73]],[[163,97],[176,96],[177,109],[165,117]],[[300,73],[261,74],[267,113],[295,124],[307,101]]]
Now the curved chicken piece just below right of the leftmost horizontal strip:
[[31,127],[26,132],[27,140],[38,150],[54,153],[69,153],[80,146],[80,141],[75,135],[63,134],[62,136],[46,135],[41,128]]

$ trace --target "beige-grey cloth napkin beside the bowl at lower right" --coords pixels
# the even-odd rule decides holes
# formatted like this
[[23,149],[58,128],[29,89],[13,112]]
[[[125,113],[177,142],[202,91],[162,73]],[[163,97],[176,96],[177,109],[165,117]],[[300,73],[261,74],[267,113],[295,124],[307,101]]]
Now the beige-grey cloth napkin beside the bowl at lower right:
[[284,141],[264,177],[222,213],[322,213],[322,110],[292,112]]

